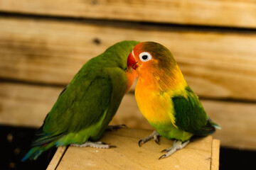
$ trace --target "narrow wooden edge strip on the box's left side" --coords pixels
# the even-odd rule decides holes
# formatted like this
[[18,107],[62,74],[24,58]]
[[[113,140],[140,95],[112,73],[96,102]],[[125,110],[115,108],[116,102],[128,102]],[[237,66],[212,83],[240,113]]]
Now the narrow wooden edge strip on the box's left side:
[[46,170],[55,170],[60,164],[61,159],[63,158],[65,152],[67,151],[67,146],[58,147],[57,151],[55,152],[53,159],[51,159],[50,164],[48,165]]

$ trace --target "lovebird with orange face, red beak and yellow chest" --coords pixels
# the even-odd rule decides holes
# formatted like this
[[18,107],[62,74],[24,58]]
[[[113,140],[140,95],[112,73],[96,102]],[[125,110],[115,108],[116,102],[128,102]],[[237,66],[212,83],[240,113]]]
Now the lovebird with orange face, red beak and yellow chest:
[[156,42],[141,42],[127,59],[127,67],[135,69],[139,79],[135,97],[139,110],[156,130],[139,141],[139,146],[159,137],[175,139],[164,149],[169,157],[185,147],[193,135],[206,136],[219,126],[208,118],[198,96],[186,83],[171,52]]

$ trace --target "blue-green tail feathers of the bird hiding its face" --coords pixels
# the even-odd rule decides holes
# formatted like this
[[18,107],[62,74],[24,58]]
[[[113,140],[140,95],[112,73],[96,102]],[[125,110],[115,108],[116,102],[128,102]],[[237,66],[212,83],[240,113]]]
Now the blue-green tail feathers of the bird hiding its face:
[[55,142],[50,142],[42,146],[36,146],[29,150],[29,152],[21,159],[21,162],[25,162],[28,159],[36,160],[39,155],[41,155],[46,150],[50,149],[55,145]]

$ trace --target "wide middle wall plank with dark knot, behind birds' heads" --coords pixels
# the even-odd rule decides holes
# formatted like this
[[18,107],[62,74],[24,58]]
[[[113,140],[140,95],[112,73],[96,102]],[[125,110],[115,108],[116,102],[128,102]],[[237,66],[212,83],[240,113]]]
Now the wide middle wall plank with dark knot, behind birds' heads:
[[[256,34],[154,26],[0,18],[0,78],[65,86],[87,60],[121,40],[156,41],[173,52],[199,96],[256,99]],[[94,43],[95,39],[100,44]],[[242,89],[242,90],[241,90]]]

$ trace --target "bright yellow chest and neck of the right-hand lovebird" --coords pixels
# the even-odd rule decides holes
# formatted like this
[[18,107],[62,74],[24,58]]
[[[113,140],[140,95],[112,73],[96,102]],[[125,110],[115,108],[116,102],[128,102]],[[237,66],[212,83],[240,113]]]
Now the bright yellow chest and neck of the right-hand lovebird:
[[171,98],[183,95],[187,86],[181,71],[173,77],[156,77],[151,74],[140,75],[135,89],[135,97],[139,110],[149,123],[172,123],[175,125],[174,104]]

